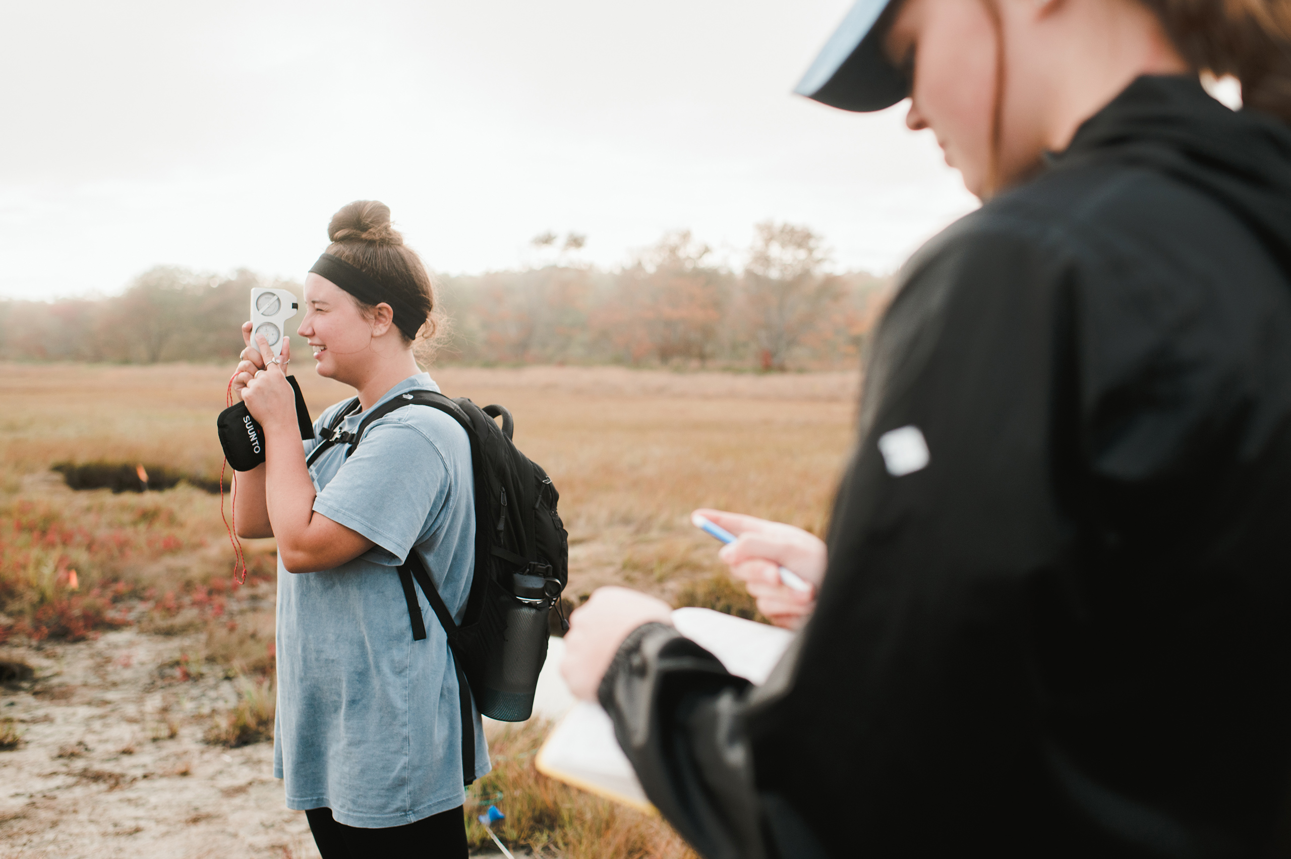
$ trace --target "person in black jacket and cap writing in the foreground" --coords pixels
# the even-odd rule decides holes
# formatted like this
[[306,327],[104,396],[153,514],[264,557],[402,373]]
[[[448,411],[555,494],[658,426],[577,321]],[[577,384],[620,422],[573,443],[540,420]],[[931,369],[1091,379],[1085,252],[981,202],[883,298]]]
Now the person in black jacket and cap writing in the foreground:
[[726,521],[737,575],[818,584],[759,581],[811,610],[763,686],[644,595],[573,615],[571,687],[702,855],[1287,853],[1288,25],[862,0],[826,47],[808,94],[909,89],[985,204],[901,271],[826,544]]

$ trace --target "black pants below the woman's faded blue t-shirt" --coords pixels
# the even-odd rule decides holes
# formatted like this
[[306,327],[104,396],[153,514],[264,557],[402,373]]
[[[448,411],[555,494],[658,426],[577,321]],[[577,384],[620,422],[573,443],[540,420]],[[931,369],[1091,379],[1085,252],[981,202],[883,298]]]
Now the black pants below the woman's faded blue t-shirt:
[[381,829],[337,823],[332,809],[310,809],[305,816],[323,859],[466,859],[462,806]]

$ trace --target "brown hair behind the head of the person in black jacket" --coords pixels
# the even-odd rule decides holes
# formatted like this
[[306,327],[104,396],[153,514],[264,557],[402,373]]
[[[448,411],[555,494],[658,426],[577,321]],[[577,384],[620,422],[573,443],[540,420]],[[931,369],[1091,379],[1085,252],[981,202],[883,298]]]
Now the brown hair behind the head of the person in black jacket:
[[1193,68],[1242,81],[1242,105],[1291,123],[1291,0],[1141,0]]

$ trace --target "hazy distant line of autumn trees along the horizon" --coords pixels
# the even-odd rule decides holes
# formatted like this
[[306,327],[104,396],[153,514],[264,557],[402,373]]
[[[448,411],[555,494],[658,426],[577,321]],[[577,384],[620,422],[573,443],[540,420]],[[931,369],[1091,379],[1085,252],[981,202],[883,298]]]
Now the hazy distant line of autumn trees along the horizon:
[[[689,231],[665,234],[633,262],[604,271],[574,261],[585,238],[533,240],[540,260],[511,271],[438,278],[447,316],[440,363],[621,363],[847,367],[889,282],[829,274],[807,227],[757,226],[742,271],[713,262]],[[301,293],[252,271],[212,276],[156,267],[119,296],[0,301],[0,359],[158,363],[232,360],[253,287]]]

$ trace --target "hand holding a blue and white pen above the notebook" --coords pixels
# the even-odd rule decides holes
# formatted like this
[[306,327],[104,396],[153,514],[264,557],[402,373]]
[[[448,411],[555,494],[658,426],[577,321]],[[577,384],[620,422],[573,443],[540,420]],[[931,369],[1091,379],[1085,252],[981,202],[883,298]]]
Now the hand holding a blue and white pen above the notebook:
[[[723,546],[718,557],[731,567],[732,576],[745,583],[758,601],[758,611],[777,626],[802,626],[816,608],[816,592],[825,580],[828,553],[824,541],[782,522],[723,510],[695,513],[738,537]],[[811,590],[794,590],[781,583],[781,566],[797,572]]]

